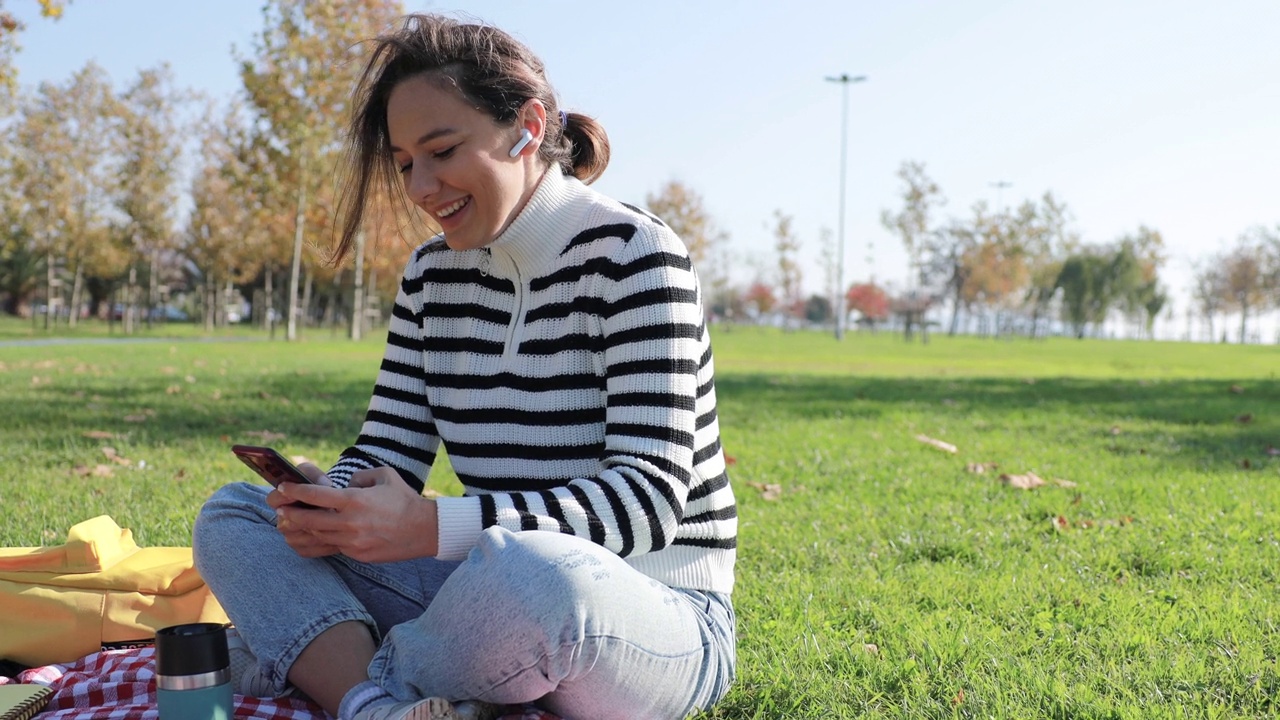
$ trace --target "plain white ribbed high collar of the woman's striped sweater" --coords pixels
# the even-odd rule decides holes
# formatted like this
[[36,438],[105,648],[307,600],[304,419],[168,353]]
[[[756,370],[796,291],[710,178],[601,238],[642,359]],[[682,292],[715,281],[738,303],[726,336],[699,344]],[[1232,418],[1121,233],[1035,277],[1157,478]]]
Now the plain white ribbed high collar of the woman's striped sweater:
[[588,192],[577,178],[566,177],[552,165],[516,219],[485,246],[492,254],[490,272],[502,278],[536,275],[568,243],[567,233],[577,225],[575,214],[564,213],[573,200]]

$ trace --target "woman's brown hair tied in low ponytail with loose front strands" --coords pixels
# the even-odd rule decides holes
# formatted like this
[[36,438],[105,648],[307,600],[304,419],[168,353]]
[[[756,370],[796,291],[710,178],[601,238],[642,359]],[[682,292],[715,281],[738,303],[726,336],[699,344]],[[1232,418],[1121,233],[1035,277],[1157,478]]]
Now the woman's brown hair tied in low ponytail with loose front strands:
[[547,108],[539,158],[585,183],[599,178],[609,164],[604,127],[579,113],[562,114],[543,61],[506,32],[443,15],[412,14],[398,29],[374,38],[372,45],[356,86],[347,147],[351,176],[342,191],[344,218],[334,264],[355,245],[374,186],[388,191],[401,187],[387,132],[387,100],[408,78],[438,74],[499,124],[515,124],[525,102],[539,100]]

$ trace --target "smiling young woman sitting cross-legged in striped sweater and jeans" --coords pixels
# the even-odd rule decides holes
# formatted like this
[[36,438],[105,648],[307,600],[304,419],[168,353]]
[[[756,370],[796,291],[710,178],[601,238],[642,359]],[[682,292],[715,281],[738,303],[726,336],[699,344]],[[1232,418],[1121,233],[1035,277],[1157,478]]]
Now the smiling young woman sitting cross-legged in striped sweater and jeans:
[[[492,27],[411,15],[376,38],[352,131],[338,258],[378,183],[443,233],[404,270],[356,443],[303,466],[317,484],[230,484],[196,521],[256,656],[233,682],[343,719],[710,707],[737,512],[680,238],[586,187],[603,128]],[[421,495],[442,442],[465,497]]]

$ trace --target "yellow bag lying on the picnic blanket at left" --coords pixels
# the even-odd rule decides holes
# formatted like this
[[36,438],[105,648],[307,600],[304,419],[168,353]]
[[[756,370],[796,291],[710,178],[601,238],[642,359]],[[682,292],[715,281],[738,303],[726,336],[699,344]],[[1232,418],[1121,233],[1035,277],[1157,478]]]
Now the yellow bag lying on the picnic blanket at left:
[[40,666],[150,643],[182,623],[227,623],[189,547],[145,547],[100,515],[56,547],[0,548],[0,659]]

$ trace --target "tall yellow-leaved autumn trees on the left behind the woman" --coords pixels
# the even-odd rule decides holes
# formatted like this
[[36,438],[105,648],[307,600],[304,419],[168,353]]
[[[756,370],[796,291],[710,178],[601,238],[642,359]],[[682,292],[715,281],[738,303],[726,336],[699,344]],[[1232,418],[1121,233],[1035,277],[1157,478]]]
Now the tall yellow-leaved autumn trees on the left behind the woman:
[[353,266],[328,263],[358,41],[402,14],[390,0],[269,0],[229,102],[177,87],[166,65],[119,91],[95,63],[13,88],[0,306],[45,327],[95,316],[133,332],[174,304],[223,325],[243,299],[287,338],[338,323],[358,337],[433,232],[379,197]]

